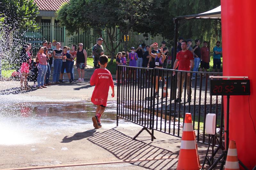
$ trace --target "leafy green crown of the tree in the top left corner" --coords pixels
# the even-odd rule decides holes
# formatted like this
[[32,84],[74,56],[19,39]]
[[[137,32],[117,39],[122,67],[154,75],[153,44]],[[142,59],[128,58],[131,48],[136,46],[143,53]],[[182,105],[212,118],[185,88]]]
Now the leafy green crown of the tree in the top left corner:
[[1,0],[0,14],[4,16],[4,24],[10,31],[27,27],[30,30],[38,29],[35,18],[39,14],[34,0]]

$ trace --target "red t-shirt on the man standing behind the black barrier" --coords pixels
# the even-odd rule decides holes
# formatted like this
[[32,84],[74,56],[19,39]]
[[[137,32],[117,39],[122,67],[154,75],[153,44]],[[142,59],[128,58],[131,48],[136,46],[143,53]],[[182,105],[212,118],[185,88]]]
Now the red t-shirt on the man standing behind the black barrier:
[[176,59],[179,60],[179,70],[189,71],[190,70],[190,60],[194,60],[193,54],[191,51],[187,50],[185,52],[178,52]]

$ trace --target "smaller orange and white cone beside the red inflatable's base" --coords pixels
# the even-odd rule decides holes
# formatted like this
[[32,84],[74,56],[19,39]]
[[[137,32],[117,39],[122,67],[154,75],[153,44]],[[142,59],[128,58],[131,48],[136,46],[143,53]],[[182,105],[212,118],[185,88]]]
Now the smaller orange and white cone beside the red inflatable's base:
[[228,156],[225,164],[225,170],[239,170],[239,161],[237,158],[236,142],[231,140],[228,146]]

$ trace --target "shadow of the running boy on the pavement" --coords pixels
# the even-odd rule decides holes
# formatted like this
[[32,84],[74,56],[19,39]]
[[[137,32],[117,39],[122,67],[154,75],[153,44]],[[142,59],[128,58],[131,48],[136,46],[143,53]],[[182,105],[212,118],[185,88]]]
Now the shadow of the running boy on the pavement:
[[72,137],[65,136],[60,143],[69,143],[74,140],[81,140],[86,137],[92,137],[93,135],[96,135],[98,132],[96,132],[96,129],[87,130],[85,132],[77,132]]

